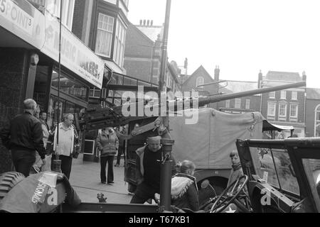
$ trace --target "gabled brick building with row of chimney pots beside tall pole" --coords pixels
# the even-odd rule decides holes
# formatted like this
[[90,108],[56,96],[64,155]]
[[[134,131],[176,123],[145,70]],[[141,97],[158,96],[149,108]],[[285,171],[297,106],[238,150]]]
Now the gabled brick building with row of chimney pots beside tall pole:
[[[159,84],[161,73],[161,45],[163,26],[154,26],[153,21],[140,21],[139,26],[129,23],[124,52],[124,68],[130,77]],[[180,91],[178,80],[181,70],[176,62],[167,63],[164,82],[167,90]]]

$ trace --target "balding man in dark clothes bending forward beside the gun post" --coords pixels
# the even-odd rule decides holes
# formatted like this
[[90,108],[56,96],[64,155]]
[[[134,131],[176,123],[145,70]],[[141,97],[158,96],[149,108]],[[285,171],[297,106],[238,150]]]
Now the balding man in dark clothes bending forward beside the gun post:
[[[147,145],[137,149],[137,190],[130,204],[144,204],[149,199],[154,199],[154,194],[160,193],[161,162],[164,155],[161,145],[161,136],[149,137]],[[172,175],[176,174],[176,162],[171,155]]]

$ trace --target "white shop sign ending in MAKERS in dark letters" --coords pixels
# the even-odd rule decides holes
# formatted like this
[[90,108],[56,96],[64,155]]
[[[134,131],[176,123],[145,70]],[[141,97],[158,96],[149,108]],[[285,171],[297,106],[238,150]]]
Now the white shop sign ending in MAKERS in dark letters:
[[[58,62],[60,23],[57,18],[51,16],[48,12],[45,16],[46,42],[41,48],[41,52]],[[65,26],[62,26],[61,32],[61,64],[90,82],[90,84],[102,89],[105,62]]]

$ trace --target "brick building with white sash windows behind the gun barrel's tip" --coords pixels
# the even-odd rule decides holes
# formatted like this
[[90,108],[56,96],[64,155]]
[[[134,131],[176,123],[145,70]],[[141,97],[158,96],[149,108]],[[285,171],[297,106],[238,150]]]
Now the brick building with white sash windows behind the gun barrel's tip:
[[[265,77],[260,73],[260,88],[274,87],[283,84],[302,82],[306,79],[297,72],[270,71]],[[261,113],[268,121],[280,126],[294,126],[294,133],[299,137],[305,136],[305,104],[306,88],[293,88],[262,94]],[[287,138],[290,132],[284,132]]]

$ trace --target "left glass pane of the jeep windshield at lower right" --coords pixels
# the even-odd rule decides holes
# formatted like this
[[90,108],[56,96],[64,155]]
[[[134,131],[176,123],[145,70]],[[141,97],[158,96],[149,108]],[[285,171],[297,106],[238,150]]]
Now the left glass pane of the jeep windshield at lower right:
[[257,151],[256,172],[260,178],[280,190],[299,195],[299,184],[294,175],[287,150],[251,148]]

